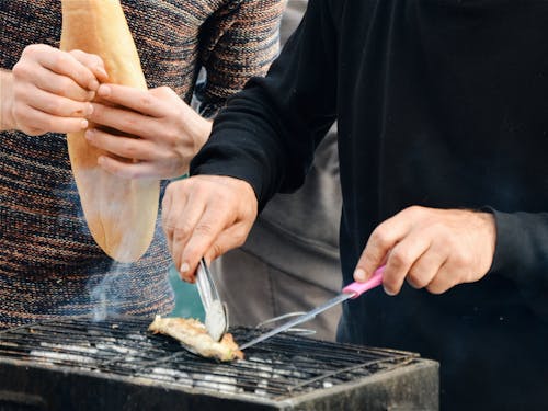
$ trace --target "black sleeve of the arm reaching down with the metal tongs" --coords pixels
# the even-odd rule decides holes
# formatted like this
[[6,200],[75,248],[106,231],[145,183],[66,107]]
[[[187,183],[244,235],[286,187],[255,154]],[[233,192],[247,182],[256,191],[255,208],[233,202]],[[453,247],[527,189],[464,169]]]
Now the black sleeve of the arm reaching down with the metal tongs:
[[192,175],[246,180],[261,209],[276,192],[302,184],[313,150],[335,119],[334,22],[329,1],[309,2],[267,76],[251,79],[218,114],[208,142],[191,163]]

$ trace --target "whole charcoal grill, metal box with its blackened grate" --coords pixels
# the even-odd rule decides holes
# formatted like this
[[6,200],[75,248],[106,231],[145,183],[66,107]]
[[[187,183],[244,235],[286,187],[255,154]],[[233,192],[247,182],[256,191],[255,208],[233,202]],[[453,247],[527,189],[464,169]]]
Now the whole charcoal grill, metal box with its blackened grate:
[[[0,410],[438,408],[438,364],[414,353],[278,334],[218,363],[149,323],[79,317],[0,332]],[[230,332],[244,342],[264,330]]]

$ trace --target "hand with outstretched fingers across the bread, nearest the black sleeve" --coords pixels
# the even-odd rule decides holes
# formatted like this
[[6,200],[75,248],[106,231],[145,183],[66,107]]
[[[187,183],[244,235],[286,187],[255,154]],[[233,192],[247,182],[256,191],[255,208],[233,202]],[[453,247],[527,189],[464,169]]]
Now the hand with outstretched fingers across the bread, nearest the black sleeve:
[[212,130],[212,122],[167,87],[145,91],[102,84],[98,96],[105,104],[93,103],[88,118],[109,128],[90,128],[85,138],[110,153],[101,156],[99,164],[122,178],[171,179],[185,174]]

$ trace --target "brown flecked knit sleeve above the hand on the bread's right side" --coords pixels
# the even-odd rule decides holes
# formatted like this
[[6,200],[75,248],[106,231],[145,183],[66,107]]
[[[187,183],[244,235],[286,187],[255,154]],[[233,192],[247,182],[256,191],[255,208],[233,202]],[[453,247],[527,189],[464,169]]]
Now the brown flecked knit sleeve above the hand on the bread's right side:
[[201,31],[205,80],[196,87],[199,113],[213,117],[254,76],[264,76],[279,50],[286,0],[228,0]]

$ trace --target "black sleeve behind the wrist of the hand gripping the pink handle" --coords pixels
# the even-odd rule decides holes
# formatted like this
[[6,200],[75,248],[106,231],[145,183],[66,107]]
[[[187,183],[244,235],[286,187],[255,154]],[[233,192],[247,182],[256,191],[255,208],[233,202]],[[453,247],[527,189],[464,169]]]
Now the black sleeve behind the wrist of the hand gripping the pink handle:
[[548,319],[548,213],[501,213],[490,273],[514,281],[529,306]]

